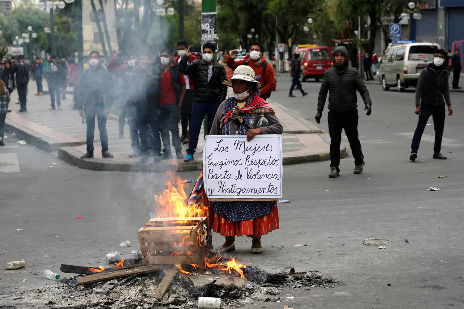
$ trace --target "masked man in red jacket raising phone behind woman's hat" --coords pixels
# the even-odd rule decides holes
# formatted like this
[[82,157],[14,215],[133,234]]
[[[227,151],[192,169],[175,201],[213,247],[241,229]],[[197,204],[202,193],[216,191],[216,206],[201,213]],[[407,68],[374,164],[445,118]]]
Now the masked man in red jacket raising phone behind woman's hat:
[[227,58],[227,65],[232,70],[235,70],[239,65],[248,65],[255,71],[256,80],[260,82],[263,87],[259,96],[267,99],[271,96],[271,92],[276,90],[276,76],[274,75],[274,68],[271,63],[266,61],[263,57],[263,45],[258,41],[251,43],[250,55],[246,56],[243,60],[235,61],[235,50],[231,50],[230,56]]

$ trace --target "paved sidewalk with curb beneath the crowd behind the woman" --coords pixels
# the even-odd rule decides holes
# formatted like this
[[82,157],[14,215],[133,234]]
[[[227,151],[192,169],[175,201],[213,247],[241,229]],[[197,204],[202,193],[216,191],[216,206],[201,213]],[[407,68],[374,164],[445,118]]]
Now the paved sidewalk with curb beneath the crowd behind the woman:
[[[44,90],[46,89],[44,81]],[[191,171],[202,169],[203,129],[195,152],[195,160],[164,160],[161,164],[148,164],[142,167],[135,165],[137,158],[129,158],[132,153],[129,139],[129,126],[124,126],[124,138],[119,139],[117,116],[110,115],[107,121],[109,151],[114,158],[101,157],[101,145],[98,126],[95,126],[94,155],[92,159],[81,159],[86,151],[86,125],[76,110],[71,110],[72,95],[61,102],[61,110],[49,110],[50,96],[34,96],[35,82],[29,83],[27,112],[18,113],[17,91],[12,94],[11,113],[6,116],[5,129],[14,132],[20,139],[48,152],[56,152],[60,159],[88,170],[119,171]],[[329,144],[321,137],[321,129],[298,117],[277,102],[269,102],[276,111],[277,117],[284,126],[283,151],[284,164],[298,164],[329,159]],[[187,145],[182,145],[186,154]],[[342,149],[342,155],[345,149]],[[175,153],[172,149],[172,153]]]

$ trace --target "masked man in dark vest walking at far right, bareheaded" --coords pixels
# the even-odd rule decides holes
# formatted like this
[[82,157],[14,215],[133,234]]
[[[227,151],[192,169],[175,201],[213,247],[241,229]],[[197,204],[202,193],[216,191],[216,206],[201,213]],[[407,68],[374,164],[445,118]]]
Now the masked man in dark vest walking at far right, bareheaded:
[[441,154],[441,140],[445,128],[445,102],[448,106],[448,115],[453,114],[451,107],[450,89],[448,80],[448,60],[446,51],[436,49],[433,53],[433,63],[429,63],[420,72],[416,88],[416,110],[419,115],[416,131],[412,137],[411,155],[409,159],[415,161],[419,150],[420,139],[430,116],[435,129],[435,145],[433,147],[434,159],[446,159]]

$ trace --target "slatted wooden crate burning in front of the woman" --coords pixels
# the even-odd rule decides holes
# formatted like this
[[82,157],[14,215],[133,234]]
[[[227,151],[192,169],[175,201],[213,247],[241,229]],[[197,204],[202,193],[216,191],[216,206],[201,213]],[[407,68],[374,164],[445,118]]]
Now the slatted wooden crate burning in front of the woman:
[[207,217],[152,218],[138,230],[144,264],[200,264],[211,251]]

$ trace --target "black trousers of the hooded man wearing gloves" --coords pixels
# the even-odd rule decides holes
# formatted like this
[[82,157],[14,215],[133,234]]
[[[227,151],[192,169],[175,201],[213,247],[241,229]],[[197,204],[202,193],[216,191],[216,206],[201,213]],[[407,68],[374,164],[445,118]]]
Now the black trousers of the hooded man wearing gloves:
[[340,166],[340,144],[342,143],[343,129],[345,129],[345,134],[353,152],[354,164],[360,165],[364,161],[361,142],[358,137],[358,118],[357,109],[341,113],[329,111],[329,114],[327,114],[330,134],[330,167],[338,168]]

